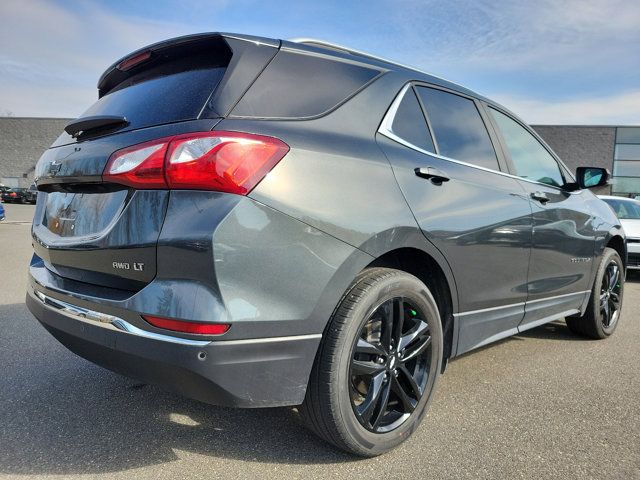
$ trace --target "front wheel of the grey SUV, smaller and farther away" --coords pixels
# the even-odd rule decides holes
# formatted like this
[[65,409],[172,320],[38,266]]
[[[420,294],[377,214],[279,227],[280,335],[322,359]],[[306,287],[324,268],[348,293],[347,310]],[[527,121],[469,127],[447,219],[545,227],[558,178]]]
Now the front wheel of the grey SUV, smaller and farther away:
[[[617,271],[617,280],[611,286],[609,282],[614,271]],[[620,323],[623,294],[624,265],[618,252],[605,248],[587,310],[582,317],[568,317],[567,327],[575,334],[593,339],[611,336]]]

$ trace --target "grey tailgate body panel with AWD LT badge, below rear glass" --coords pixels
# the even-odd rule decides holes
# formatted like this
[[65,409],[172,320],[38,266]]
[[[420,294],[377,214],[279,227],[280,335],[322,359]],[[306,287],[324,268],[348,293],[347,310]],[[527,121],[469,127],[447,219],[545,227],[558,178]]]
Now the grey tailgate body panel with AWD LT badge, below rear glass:
[[34,250],[47,268],[65,278],[132,291],[153,280],[169,191],[103,183],[102,172],[116,150],[208,131],[218,121],[161,125],[47,150],[36,167],[40,194],[32,227]]

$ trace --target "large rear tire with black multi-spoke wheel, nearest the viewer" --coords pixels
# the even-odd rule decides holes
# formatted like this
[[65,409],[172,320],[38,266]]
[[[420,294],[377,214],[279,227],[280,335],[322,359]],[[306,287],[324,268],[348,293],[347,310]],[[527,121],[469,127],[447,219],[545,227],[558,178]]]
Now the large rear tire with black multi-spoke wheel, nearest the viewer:
[[[383,326],[388,324],[394,328]],[[399,270],[366,269],[329,321],[300,415],[336,447],[363,457],[380,455],[418,427],[441,365],[442,325],[429,289]],[[373,373],[362,373],[369,369]]]

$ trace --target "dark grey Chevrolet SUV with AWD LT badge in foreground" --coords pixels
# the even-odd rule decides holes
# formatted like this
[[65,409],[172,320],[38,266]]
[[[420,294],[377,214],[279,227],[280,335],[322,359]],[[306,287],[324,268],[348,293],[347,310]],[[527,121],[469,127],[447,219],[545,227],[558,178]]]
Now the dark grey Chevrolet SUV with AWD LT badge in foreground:
[[625,236],[588,190],[608,173],[574,177],[464,87],[214,33],[118,60],[98,96],[37,164],[26,300],[99,365],[217,405],[300,405],[373,456],[417,428],[450,358],[620,321]]

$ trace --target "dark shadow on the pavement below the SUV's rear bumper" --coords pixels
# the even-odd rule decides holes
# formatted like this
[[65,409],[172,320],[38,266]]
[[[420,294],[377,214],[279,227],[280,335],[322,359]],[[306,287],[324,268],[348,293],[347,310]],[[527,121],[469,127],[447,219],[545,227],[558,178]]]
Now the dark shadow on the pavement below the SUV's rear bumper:
[[206,405],[83,360],[23,304],[0,306],[0,474],[96,474],[182,452],[268,463],[354,461],[291,408]]

